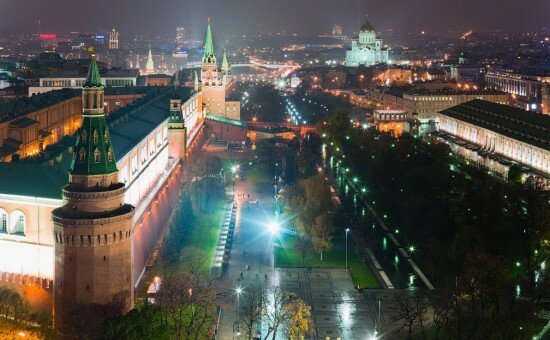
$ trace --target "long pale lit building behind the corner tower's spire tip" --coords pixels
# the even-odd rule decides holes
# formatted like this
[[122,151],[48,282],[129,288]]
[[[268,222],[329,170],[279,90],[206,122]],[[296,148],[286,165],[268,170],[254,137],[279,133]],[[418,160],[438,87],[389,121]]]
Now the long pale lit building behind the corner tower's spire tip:
[[[105,87],[137,86],[138,69],[113,68],[101,74],[101,82]],[[86,81],[86,74],[80,70],[64,70],[39,79],[39,86],[29,87],[29,97],[38,93],[64,88],[80,89]]]

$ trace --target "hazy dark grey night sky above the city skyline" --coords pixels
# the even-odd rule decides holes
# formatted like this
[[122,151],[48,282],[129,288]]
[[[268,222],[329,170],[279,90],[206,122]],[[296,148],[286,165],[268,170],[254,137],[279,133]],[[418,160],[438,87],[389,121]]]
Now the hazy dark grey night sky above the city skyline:
[[378,30],[550,28],[550,0],[0,0],[0,30],[57,33],[110,29],[172,34],[176,26],[202,37],[207,16],[228,35],[319,34],[335,23],[350,33],[367,15]]

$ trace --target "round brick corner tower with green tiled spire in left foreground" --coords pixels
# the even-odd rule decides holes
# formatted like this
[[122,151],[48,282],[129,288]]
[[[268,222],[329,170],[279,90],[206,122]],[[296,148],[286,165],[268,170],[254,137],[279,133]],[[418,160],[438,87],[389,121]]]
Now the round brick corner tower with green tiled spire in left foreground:
[[124,314],[134,305],[134,207],[124,203],[125,185],[118,182],[103,96],[92,54],[69,183],[63,188],[63,206],[52,213],[54,326],[69,336],[90,321]]

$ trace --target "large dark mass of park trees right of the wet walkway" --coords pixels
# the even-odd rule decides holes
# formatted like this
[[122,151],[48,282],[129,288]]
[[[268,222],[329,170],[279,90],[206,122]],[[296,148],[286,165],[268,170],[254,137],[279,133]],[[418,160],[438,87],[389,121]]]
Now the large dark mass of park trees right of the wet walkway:
[[323,131],[327,145],[340,148],[329,148],[328,157],[363,188],[343,198],[356,239],[379,242],[374,217],[358,213],[363,205],[354,195],[387,217],[402,244],[415,246],[415,260],[445,301],[436,309],[445,311],[449,337],[505,335],[533,323],[531,311],[550,295],[541,267],[550,250],[547,190],[531,180],[495,179],[454,158],[444,143],[352,128],[346,113]]

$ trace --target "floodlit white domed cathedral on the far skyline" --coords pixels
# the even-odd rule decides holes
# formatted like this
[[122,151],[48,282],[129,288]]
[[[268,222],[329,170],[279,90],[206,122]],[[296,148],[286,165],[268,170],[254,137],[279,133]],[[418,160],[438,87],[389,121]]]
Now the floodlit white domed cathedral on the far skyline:
[[346,51],[346,66],[370,66],[388,60],[388,49],[383,47],[382,39],[376,37],[374,27],[367,21],[359,30],[359,36],[351,40],[351,51]]

